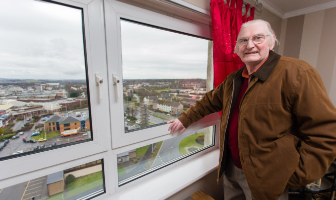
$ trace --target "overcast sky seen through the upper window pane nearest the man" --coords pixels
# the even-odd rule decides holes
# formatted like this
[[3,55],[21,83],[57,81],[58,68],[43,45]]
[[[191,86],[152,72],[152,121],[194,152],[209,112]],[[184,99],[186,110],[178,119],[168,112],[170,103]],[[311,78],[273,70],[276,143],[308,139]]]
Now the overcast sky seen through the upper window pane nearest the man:
[[125,79],[207,78],[206,39],[121,21],[121,48]]

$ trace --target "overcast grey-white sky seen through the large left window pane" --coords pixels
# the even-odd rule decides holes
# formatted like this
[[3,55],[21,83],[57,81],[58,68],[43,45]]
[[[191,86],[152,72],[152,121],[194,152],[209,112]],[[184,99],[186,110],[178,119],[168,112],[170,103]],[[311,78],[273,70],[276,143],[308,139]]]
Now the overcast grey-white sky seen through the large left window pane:
[[2,78],[85,79],[82,13],[39,1],[0,7]]

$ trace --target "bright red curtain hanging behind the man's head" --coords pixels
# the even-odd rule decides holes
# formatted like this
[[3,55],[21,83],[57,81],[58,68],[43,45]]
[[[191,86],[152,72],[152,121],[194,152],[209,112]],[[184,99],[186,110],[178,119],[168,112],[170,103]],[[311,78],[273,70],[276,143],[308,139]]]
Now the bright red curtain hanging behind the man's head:
[[213,49],[214,49],[214,86],[223,82],[232,71],[244,66],[234,47],[238,33],[244,22],[253,20],[254,7],[250,16],[247,11],[250,5],[246,5],[246,14],[242,16],[243,0],[211,0],[211,18],[213,25]]

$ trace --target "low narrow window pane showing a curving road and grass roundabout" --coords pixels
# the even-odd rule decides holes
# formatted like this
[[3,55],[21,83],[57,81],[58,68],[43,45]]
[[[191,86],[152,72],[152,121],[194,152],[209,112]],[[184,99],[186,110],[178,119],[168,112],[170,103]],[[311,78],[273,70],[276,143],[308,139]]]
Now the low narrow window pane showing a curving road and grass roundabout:
[[213,128],[207,127],[117,154],[119,185],[213,146]]

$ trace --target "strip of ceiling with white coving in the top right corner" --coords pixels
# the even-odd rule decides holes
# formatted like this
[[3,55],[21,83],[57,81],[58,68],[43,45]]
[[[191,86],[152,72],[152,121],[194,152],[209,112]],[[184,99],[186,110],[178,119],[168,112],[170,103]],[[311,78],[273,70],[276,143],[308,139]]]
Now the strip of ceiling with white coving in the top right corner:
[[[280,18],[290,18],[336,7],[335,0],[258,0],[257,2]],[[259,6],[256,9],[261,8]]]

